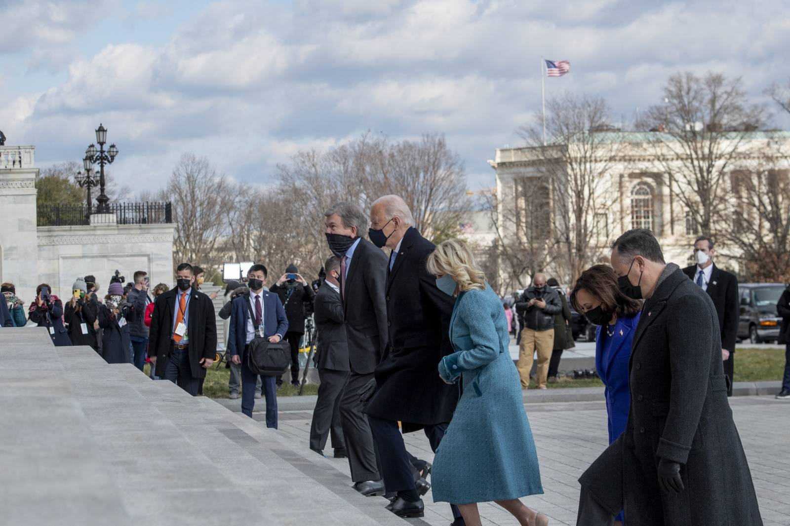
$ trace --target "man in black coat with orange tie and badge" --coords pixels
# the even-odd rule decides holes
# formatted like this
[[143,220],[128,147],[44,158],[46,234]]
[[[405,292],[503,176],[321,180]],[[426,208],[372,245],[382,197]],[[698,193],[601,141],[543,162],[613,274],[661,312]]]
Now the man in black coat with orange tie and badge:
[[156,376],[198,396],[200,379],[216,356],[216,314],[209,296],[194,287],[192,265],[182,263],[176,272],[177,286],[154,302],[149,358]]

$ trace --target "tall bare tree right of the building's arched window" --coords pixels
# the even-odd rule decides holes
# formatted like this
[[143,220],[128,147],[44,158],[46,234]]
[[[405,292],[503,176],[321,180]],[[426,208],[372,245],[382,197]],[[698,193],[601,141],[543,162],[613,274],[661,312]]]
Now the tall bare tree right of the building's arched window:
[[747,139],[764,122],[761,107],[748,104],[741,80],[721,73],[677,73],[664,86],[664,103],[647,111],[639,126],[656,130],[654,163],[673,195],[702,234],[724,224],[728,173],[747,156]]

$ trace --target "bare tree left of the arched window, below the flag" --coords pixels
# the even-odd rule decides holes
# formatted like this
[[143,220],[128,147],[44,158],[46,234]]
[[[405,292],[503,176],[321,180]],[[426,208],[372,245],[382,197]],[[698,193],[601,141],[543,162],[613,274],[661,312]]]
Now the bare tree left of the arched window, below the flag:
[[532,235],[545,230],[540,239],[552,256],[545,263],[573,283],[608,246],[606,221],[616,202],[611,172],[615,163],[622,169],[626,136],[611,126],[611,108],[601,97],[566,92],[547,100],[546,107],[548,145],[537,119],[519,130],[531,147],[534,181],[525,190],[524,207],[541,205],[530,216],[546,217],[546,224],[537,231],[532,226]]

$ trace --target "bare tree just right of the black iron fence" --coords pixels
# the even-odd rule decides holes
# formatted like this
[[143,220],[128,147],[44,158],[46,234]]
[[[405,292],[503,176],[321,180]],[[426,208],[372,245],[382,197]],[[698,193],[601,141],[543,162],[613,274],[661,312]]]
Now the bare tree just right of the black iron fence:
[[219,263],[218,240],[226,233],[225,210],[232,204],[228,180],[205,157],[185,153],[167,182],[173,205],[175,263]]

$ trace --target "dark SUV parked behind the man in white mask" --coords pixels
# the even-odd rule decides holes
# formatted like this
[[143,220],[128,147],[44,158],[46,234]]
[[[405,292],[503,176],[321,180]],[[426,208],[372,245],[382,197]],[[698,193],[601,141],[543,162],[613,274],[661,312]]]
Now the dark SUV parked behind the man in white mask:
[[776,341],[782,318],[777,302],[785,286],[779,283],[742,283],[738,285],[740,317],[738,337],[751,344]]

